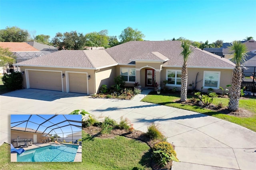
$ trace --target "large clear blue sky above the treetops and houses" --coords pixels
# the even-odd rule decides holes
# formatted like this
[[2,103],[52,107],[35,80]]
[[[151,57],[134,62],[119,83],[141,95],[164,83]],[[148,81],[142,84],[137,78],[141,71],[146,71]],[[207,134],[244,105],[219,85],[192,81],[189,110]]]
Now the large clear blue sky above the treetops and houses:
[[256,0],[1,0],[0,29],[17,26],[35,35],[125,28],[140,30],[144,40],[184,37],[215,42],[256,39]]

